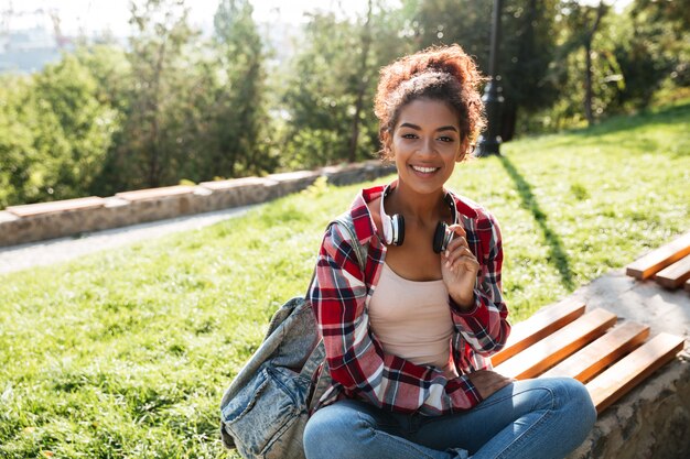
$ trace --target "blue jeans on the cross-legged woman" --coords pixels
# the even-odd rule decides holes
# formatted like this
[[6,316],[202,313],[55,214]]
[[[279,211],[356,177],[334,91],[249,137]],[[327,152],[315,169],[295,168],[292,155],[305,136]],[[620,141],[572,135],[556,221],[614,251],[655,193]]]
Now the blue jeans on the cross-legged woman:
[[308,459],[563,458],[595,420],[590,394],[570,378],[518,381],[467,412],[438,417],[345,400],[309,419],[304,452]]

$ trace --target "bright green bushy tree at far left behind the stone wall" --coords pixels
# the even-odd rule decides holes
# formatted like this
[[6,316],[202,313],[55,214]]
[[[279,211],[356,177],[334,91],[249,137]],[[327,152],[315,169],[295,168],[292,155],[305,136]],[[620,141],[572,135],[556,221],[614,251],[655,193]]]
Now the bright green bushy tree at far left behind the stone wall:
[[[103,170],[117,113],[72,55],[3,89],[0,161],[3,204],[88,195]],[[6,187],[7,185],[7,187]]]

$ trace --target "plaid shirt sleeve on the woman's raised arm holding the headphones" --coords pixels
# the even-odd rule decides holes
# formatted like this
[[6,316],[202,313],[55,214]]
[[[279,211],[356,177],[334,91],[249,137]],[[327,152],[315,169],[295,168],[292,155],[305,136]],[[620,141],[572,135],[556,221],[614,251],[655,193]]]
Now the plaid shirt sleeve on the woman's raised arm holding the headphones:
[[475,253],[482,265],[481,283],[474,289],[474,307],[462,309],[452,298],[451,316],[456,330],[479,356],[498,352],[510,334],[508,308],[503,299],[500,269],[503,247],[500,228],[493,215],[485,212],[474,231]]

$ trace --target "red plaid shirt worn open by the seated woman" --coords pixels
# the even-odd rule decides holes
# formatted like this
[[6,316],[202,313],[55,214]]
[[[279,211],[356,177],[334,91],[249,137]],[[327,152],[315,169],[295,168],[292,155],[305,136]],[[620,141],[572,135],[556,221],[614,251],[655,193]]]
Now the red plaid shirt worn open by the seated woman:
[[368,304],[386,259],[386,245],[376,233],[367,203],[382,192],[384,186],[364,189],[351,208],[357,239],[367,248],[364,271],[349,233],[337,223],[326,230],[319,252],[309,299],[333,380],[319,406],[356,398],[400,413],[441,415],[470,409],[482,397],[466,374],[490,369],[488,356],[503,348],[510,331],[500,287],[503,249],[498,223],[482,206],[451,194],[470,249],[482,267],[472,310],[460,309],[449,297],[454,324],[451,357],[460,376],[448,379],[435,367],[386,353],[369,328]]

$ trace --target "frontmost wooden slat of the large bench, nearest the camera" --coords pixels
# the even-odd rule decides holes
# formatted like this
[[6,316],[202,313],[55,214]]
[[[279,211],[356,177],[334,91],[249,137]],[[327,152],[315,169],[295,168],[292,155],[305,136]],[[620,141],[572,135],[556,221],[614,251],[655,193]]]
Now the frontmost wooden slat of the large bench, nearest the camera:
[[681,337],[661,332],[585,384],[597,413],[648,378],[682,350]]

